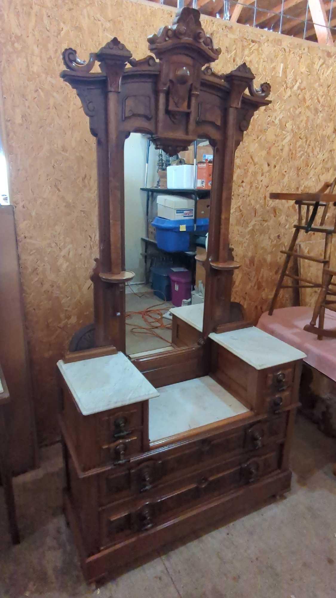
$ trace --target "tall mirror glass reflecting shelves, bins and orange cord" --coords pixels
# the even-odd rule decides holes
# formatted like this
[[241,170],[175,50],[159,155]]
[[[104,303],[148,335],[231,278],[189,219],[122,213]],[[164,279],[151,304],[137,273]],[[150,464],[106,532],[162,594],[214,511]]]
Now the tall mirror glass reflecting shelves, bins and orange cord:
[[131,133],[124,146],[126,352],[172,347],[173,307],[203,320],[213,150],[207,140],[169,157]]

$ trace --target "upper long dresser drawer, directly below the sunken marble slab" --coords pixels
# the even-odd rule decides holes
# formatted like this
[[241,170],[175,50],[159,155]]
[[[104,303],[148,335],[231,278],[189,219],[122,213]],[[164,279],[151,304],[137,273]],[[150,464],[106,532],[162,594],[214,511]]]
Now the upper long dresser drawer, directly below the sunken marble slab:
[[286,413],[253,425],[213,434],[182,446],[157,451],[145,459],[134,460],[125,467],[103,472],[99,477],[100,505],[140,496],[152,488],[184,477],[185,472],[199,471],[204,465],[224,462],[245,451],[258,451],[268,443],[282,440],[286,432]]

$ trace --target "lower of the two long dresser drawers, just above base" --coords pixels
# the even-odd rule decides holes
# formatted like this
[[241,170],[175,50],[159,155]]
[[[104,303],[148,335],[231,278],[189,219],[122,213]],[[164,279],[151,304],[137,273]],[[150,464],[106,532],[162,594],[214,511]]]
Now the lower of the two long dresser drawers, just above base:
[[[124,511],[109,506],[100,509],[101,547],[122,541],[127,536],[145,532],[154,526],[165,523],[188,508],[206,502],[236,489],[251,484],[279,468],[282,446],[277,446],[261,457],[252,457],[242,462],[218,464],[184,478],[184,486],[175,492],[155,496],[148,501],[127,501]],[[239,462],[240,460],[240,462]],[[238,463],[238,464],[237,464]]]

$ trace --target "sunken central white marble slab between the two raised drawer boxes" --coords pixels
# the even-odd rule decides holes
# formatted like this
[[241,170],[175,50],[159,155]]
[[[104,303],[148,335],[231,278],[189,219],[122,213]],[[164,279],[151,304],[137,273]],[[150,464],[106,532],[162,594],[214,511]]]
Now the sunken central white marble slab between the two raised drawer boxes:
[[210,376],[162,386],[158,391],[160,396],[149,401],[151,442],[248,411]]

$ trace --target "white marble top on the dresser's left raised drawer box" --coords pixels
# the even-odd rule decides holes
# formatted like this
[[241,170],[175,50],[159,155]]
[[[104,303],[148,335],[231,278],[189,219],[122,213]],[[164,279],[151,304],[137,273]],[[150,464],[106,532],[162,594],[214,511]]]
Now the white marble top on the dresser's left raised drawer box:
[[158,396],[124,353],[57,365],[83,415]]

